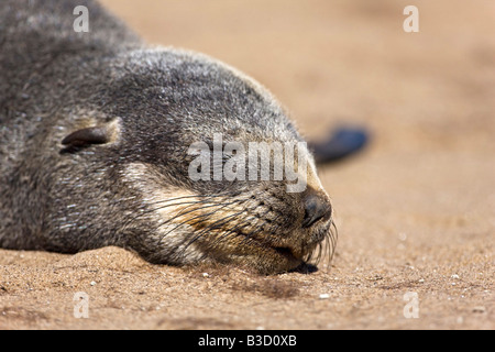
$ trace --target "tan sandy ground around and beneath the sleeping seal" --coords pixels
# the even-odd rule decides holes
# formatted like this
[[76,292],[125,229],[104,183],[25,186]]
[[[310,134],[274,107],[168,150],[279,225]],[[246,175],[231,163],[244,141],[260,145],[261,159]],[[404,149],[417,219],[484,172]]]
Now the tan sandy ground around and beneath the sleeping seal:
[[[320,169],[340,230],[331,266],[265,277],[116,248],[0,251],[0,329],[495,329],[495,2],[105,3],[151,43],[252,75],[307,136],[345,122],[373,143]],[[403,30],[407,4],[419,33]]]

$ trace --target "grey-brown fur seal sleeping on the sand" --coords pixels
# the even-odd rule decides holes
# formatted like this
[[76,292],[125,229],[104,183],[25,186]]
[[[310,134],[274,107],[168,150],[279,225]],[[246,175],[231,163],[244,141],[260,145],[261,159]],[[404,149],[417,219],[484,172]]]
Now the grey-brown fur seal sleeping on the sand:
[[[73,29],[77,6],[89,9],[89,33]],[[308,148],[300,193],[286,180],[194,182],[188,147],[215,133],[304,141],[260,84],[206,55],[147,46],[95,1],[1,2],[1,248],[118,245],[152,263],[261,273],[293,270],[324,242],[334,249]]]

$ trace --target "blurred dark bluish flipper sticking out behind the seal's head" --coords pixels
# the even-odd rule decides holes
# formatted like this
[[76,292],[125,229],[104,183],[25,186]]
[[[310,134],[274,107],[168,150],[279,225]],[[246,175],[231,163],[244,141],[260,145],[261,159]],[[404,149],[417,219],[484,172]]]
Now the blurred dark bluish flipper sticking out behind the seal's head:
[[362,150],[369,140],[370,135],[365,130],[339,128],[327,141],[308,143],[308,147],[314,153],[317,164],[326,164],[340,161]]

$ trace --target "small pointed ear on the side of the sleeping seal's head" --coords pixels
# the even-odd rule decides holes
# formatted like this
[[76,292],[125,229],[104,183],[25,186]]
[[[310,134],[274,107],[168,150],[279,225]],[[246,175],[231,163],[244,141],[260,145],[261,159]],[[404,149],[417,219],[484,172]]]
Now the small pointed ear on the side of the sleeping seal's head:
[[107,144],[114,142],[118,139],[118,132],[119,128],[116,120],[105,125],[77,130],[63,139],[62,144],[70,150],[94,144]]

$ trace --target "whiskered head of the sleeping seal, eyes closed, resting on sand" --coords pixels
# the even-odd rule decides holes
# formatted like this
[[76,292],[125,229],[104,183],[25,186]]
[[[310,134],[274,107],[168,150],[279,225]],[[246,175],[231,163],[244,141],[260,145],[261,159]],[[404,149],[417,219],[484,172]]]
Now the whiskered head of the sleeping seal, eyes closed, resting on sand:
[[[96,163],[101,172],[117,170],[120,185],[107,191],[125,188],[135,195],[130,200],[113,198],[113,207],[121,208],[114,232],[124,246],[155,263],[234,262],[264,273],[295,268],[326,239],[331,250],[330,200],[304,143],[295,150],[297,161],[307,166],[299,175],[305,183],[299,191],[287,190],[286,177],[261,179],[260,169],[254,178],[213,175],[217,146],[224,170],[233,156],[232,150],[227,152],[229,143],[241,143],[250,156],[254,142],[260,155],[266,152],[263,155],[273,162],[273,145],[304,142],[263,87],[231,67],[189,52],[139,51],[122,62],[124,67],[113,66],[109,84],[90,99],[117,125],[97,123],[72,132],[68,139],[77,142],[70,145],[76,150],[61,157],[74,167]],[[74,136],[85,134],[88,145],[81,147]],[[206,164],[209,169],[200,174],[207,177],[195,179],[190,170],[200,155],[194,147],[198,143],[208,146],[211,163],[204,160],[199,166]],[[258,161],[261,168],[262,156]],[[244,170],[249,167],[246,161]]]

